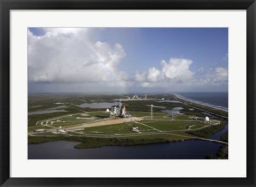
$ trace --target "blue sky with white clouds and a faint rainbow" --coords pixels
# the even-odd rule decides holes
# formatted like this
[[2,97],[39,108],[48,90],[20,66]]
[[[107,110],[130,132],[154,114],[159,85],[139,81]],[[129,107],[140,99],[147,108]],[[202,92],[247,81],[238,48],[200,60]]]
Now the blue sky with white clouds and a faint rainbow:
[[228,28],[28,28],[28,92],[228,91]]

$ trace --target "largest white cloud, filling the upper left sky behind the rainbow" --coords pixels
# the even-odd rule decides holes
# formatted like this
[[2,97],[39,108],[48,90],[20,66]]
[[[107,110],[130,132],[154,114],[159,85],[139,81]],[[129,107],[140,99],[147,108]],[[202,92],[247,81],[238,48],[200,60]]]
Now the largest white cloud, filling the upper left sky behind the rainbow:
[[126,81],[117,65],[125,57],[120,44],[92,43],[88,28],[44,28],[35,36],[28,30],[30,82],[86,83]]

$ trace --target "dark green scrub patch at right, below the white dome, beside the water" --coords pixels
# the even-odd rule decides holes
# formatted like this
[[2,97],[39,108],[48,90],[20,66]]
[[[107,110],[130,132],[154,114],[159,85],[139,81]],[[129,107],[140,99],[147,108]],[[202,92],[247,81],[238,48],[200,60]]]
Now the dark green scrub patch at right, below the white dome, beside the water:
[[219,132],[222,129],[224,129],[226,125],[227,125],[227,123],[221,123],[219,125],[211,125],[211,126],[209,126],[207,128],[204,128],[202,130],[188,131],[187,133],[194,134],[194,135],[197,135],[198,137],[202,137],[202,138],[210,138],[211,135],[213,135],[216,132]]

